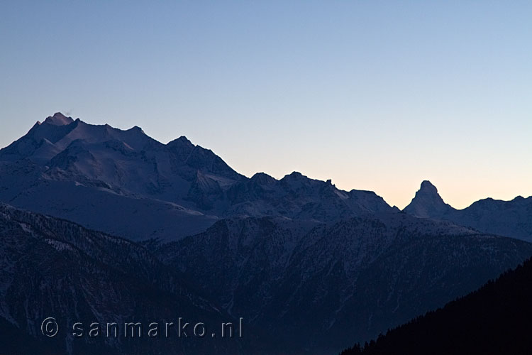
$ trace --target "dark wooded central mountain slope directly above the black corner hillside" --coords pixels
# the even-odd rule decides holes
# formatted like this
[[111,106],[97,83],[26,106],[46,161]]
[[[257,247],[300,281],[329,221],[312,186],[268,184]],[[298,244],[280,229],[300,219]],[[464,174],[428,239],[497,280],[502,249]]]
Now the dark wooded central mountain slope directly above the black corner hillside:
[[225,219],[159,253],[227,312],[267,329],[269,354],[326,354],[475,290],[532,244],[392,213],[314,226]]

